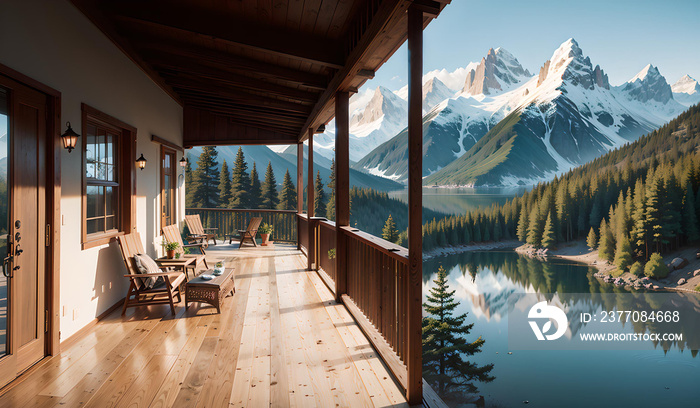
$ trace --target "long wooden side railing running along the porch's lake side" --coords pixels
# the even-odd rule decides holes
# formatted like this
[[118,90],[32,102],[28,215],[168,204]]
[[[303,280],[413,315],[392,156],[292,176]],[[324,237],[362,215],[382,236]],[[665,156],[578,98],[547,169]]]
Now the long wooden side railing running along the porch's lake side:
[[[309,239],[314,250],[311,263],[326,285],[336,293],[338,253],[336,234],[347,245],[347,293],[340,296],[372,344],[381,354],[399,382],[407,387],[411,352],[408,349],[408,250],[356,228],[340,227],[322,218],[299,217],[302,245]],[[300,224],[301,225],[301,224]],[[308,254],[308,252],[307,252]],[[421,370],[422,367],[412,369]]]

